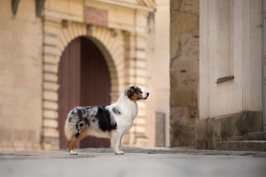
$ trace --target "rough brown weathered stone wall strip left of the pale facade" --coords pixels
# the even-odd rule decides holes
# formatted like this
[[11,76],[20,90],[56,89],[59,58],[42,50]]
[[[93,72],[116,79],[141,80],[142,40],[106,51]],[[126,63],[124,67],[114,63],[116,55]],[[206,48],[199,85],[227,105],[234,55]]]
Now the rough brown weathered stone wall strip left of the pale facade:
[[170,144],[195,145],[199,83],[199,1],[170,1]]

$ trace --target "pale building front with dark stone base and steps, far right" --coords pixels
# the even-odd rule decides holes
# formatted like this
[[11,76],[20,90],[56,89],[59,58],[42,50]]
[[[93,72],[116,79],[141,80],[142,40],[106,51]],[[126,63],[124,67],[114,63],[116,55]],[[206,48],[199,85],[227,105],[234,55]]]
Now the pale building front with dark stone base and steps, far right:
[[198,149],[266,151],[263,3],[200,1]]

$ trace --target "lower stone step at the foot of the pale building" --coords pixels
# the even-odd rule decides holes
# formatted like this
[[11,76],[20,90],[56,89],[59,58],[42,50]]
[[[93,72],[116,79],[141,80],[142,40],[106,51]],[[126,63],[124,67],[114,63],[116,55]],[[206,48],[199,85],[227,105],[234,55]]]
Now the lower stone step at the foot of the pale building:
[[219,141],[217,150],[266,152],[266,141]]

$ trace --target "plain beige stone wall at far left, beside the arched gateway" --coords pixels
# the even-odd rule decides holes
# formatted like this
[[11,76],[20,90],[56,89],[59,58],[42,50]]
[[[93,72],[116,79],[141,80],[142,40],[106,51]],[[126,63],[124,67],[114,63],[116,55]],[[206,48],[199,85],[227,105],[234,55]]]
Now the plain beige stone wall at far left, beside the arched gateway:
[[42,25],[34,0],[0,1],[0,151],[40,149]]

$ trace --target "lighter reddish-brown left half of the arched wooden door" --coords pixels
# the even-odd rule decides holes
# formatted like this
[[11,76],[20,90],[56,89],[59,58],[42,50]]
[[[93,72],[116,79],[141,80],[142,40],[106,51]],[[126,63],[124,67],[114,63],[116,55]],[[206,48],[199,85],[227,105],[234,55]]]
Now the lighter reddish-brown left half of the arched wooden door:
[[66,117],[71,109],[80,105],[80,45],[81,39],[77,38],[66,47],[58,68],[58,130],[61,149],[67,148],[68,144],[64,133]]

